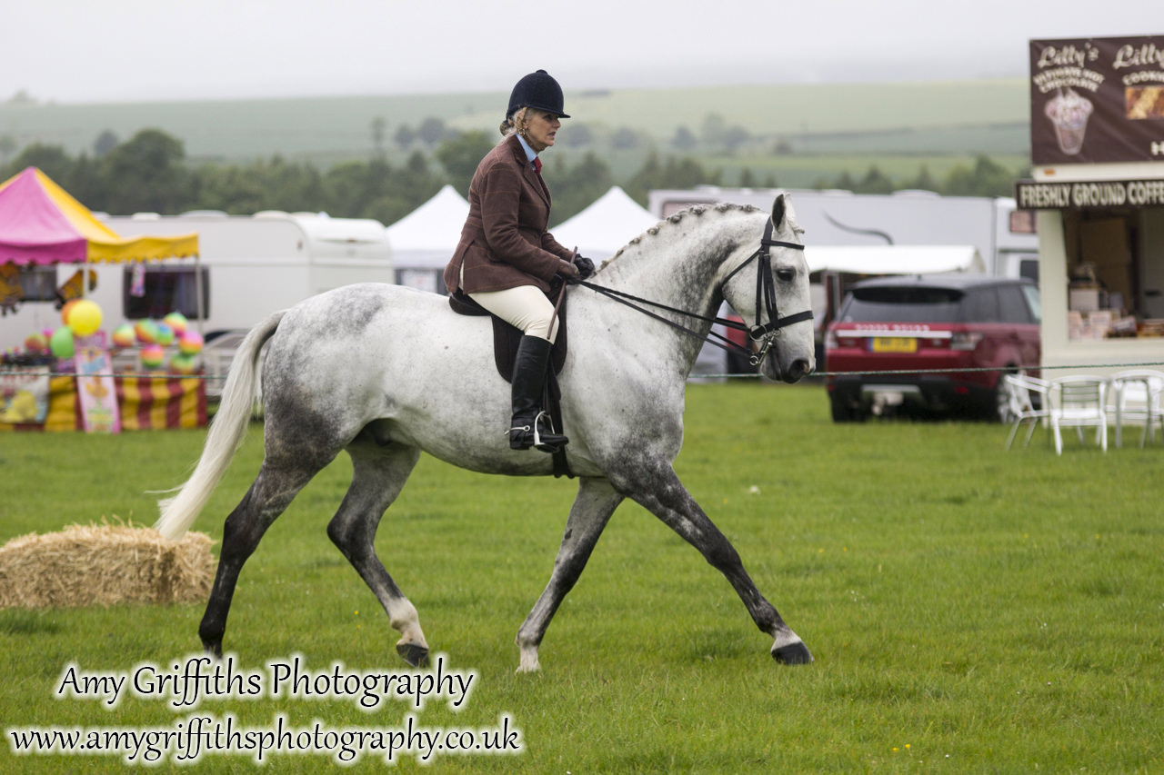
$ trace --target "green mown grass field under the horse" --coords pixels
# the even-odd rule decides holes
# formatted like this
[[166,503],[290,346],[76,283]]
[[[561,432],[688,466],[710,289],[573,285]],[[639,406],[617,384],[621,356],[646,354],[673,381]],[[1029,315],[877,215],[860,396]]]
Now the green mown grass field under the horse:
[[[382,525],[385,566],[430,644],[475,670],[459,713],[431,727],[492,727],[524,752],[446,754],[425,772],[1152,773],[1164,768],[1162,449],[1107,454],[1042,434],[1005,452],[974,422],[835,426],[819,385],[691,385],[676,469],[734,542],[760,590],[812,649],[768,656],[728,583],[624,504],[541,648],[514,674],[513,635],[541,591],[573,497],[561,479],[484,477],[424,458]],[[261,458],[253,428],[196,529],[220,534]],[[201,432],[0,439],[0,540],[102,516],[152,521]],[[1073,440],[1072,440],[1073,441]],[[268,533],[242,574],[226,647],[247,669],[300,654],[310,669],[404,669],[375,598],[325,525],[349,476],[338,461]],[[128,698],[55,699],[64,667],[128,671],[197,649],[201,605],[0,611],[0,770],[116,772],[116,758],[15,756],[8,732],[172,726],[187,712]],[[350,701],[204,702],[270,726],[395,726]],[[382,767],[365,755],[360,769]],[[317,772],[276,755],[264,772]],[[246,756],[197,772],[251,772]],[[400,772],[417,772],[413,756]]]

